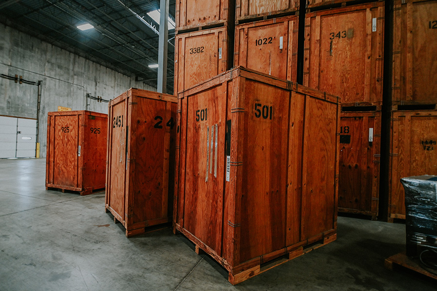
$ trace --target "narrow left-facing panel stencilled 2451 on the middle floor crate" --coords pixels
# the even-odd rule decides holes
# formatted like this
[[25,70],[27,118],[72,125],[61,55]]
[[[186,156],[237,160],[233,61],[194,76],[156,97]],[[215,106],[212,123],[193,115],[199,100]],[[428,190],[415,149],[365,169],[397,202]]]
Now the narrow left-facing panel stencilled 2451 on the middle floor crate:
[[126,113],[126,100],[111,107],[109,126],[111,127],[111,172],[109,206],[125,220],[125,177],[126,177],[126,131],[128,129]]

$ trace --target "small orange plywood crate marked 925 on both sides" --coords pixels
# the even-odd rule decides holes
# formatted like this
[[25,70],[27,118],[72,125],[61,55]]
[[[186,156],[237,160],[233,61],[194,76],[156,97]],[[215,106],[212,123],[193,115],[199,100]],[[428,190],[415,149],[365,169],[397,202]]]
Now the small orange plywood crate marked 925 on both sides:
[[105,188],[107,120],[84,110],[48,113],[46,189],[86,195]]

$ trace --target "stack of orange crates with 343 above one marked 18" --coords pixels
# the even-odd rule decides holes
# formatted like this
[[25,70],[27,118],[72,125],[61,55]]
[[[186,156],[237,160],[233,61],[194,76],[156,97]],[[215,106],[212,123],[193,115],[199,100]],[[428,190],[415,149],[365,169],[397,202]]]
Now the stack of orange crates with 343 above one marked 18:
[[[329,1],[330,5],[337,2]],[[342,98],[339,212],[376,219],[384,47],[384,2],[309,1],[304,85]],[[334,7],[334,8],[332,8]],[[323,10],[313,11],[323,8]]]

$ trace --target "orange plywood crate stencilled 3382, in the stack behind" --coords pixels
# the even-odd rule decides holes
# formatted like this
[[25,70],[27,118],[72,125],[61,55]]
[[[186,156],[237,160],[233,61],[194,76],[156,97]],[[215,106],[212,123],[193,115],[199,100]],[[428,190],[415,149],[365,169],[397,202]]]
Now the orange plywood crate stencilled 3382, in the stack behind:
[[[233,38],[233,36],[231,36]],[[174,44],[174,92],[217,76],[229,69],[227,27],[176,36]]]

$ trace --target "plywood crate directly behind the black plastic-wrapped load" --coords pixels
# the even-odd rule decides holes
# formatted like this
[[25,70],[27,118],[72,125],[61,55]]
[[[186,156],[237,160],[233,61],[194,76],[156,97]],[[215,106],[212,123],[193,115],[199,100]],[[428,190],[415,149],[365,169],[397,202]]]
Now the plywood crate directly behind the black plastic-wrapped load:
[[437,175],[437,110],[391,113],[388,218],[405,219],[400,178]]

